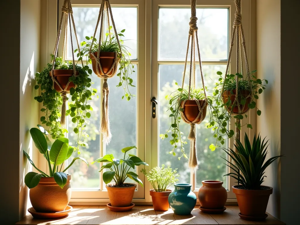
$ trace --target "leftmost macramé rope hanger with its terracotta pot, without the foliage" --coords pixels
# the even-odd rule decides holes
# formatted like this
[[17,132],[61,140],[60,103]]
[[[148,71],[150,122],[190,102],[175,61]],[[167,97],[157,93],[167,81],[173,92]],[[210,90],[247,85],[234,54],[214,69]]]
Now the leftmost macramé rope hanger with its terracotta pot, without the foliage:
[[[62,48],[62,56],[64,56],[64,45],[65,45],[65,40],[67,36],[67,28],[68,28],[68,22],[70,25],[70,40],[71,40],[71,48],[72,48],[72,58],[73,58],[73,70],[54,70],[55,66],[55,56],[58,54],[58,43],[60,40],[60,35],[61,35],[61,29],[62,29],[62,24],[64,20],[64,39],[63,39],[63,48]],[[63,103],[61,106],[61,120],[60,123],[61,125],[65,125],[65,118],[66,118],[66,101],[68,100],[67,94],[70,93],[71,88],[76,88],[76,85],[72,81],[69,80],[71,76],[78,76],[79,72],[76,71],[75,67],[75,60],[74,60],[74,50],[73,50],[73,41],[72,41],[72,32],[71,32],[71,24],[73,25],[73,30],[74,34],[76,37],[76,42],[77,42],[77,47],[79,49],[79,44],[78,44],[78,39],[77,39],[77,34],[76,34],[76,27],[74,24],[74,18],[73,18],[73,10],[72,10],[72,5],[70,0],[64,0],[64,4],[61,8],[61,19],[59,22],[58,26],[58,32],[56,36],[56,42],[55,42],[55,47],[53,50],[53,65],[52,65],[52,70],[50,72],[50,76],[53,81],[52,89],[55,89],[56,91],[60,92]],[[80,50],[79,50],[80,53]],[[81,63],[83,65],[83,62],[81,60]]]

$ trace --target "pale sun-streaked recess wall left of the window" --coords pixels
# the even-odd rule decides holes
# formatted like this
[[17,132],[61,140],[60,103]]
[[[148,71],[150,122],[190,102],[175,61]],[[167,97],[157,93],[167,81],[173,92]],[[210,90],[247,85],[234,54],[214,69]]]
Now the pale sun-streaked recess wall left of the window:
[[[39,71],[40,58],[40,0],[21,0],[21,29],[20,29],[20,140],[19,140],[19,217],[26,214],[28,188],[24,183],[26,173],[32,171],[25,150],[34,162],[37,162],[38,151],[34,147],[29,130],[39,122],[38,102],[34,97],[39,94],[35,86],[35,73]],[[33,148],[34,147],[34,148]]]

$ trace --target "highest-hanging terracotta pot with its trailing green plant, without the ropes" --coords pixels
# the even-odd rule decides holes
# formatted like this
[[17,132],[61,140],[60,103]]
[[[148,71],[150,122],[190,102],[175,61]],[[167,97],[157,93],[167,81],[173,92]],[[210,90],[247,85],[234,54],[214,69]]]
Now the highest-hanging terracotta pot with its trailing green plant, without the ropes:
[[[134,65],[131,64],[130,61],[130,52],[127,50],[127,46],[124,45],[124,40],[119,40],[120,45],[118,44],[118,41],[116,39],[115,34],[110,33],[110,30],[112,29],[112,26],[109,27],[108,33],[106,33],[106,38],[104,41],[100,43],[100,52],[99,52],[99,62],[101,64],[101,67],[98,65],[98,71],[97,71],[97,63],[96,58],[98,57],[98,49],[99,49],[99,42],[96,38],[88,37],[86,36],[86,41],[81,42],[81,46],[83,46],[82,49],[80,49],[80,53],[77,54],[77,57],[83,57],[86,56],[87,64],[91,63],[92,68],[95,74],[98,76],[104,76],[106,74],[107,77],[111,77],[117,73],[117,66],[118,64],[114,66],[115,62],[119,63],[119,72],[117,73],[117,76],[119,76],[119,83],[116,85],[117,87],[123,87],[124,88],[124,95],[123,98],[126,98],[128,101],[135,97],[135,95],[130,93],[129,86],[135,87],[133,83],[133,79],[130,78],[130,75],[135,72],[133,70]],[[125,29],[123,29],[121,32],[117,33],[119,37],[124,37],[123,33],[125,32]],[[126,40],[125,40],[126,41]],[[91,51],[90,51],[91,50]],[[75,49],[75,52],[78,51],[78,49]],[[88,54],[89,52],[92,52]],[[102,70],[101,70],[102,69]],[[98,73],[99,72],[99,73]]]

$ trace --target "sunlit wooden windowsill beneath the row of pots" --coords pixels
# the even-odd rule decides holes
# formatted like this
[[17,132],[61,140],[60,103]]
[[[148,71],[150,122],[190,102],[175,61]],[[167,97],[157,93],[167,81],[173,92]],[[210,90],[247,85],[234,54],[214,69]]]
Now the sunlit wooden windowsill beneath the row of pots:
[[75,205],[67,217],[58,220],[34,219],[30,214],[16,224],[31,225],[73,225],[73,224],[103,224],[103,225],[177,225],[177,224],[281,224],[268,214],[265,221],[247,221],[239,216],[236,205],[226,205],[223,214],[205,214],[196,206],[191,215],[175,215],[171,209],[166,212],[154,211],[152,205],[136,205],[128,212],[113,212],[107,206]]

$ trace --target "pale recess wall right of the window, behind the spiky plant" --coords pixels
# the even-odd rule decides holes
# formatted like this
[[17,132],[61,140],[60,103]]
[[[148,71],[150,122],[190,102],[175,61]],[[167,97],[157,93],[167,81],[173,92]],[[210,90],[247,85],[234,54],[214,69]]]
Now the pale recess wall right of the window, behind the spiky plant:
[[[268,158],[280,155],[280,0],[256,1],[257,77],[267,79],[265,91],[259,95],[256,134],[269,140]],[[263,185],[273,187],[267,211],[280,216],[280,160],[266,169]]]

